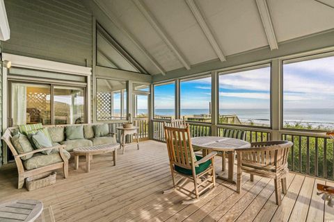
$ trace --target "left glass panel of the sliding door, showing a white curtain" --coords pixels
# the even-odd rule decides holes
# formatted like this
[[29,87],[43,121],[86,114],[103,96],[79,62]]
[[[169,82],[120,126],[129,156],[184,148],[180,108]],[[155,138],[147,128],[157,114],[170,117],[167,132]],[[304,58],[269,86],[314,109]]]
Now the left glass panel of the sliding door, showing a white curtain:
[[50,85],[11,83],[9,126],[26,123],[51,124],[50,95]]

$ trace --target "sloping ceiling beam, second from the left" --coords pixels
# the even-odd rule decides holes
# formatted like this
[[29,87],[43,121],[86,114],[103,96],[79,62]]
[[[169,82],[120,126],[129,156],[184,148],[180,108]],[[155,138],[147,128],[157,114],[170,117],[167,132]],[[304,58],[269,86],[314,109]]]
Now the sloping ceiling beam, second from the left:
[[151,26],[154,28],[154,30],[160,35],[162,40],[167,44],[169,49],[175,53],[175,56],[180,60],[182,65],[186,69],[190,69],[189,62],[186,61],[186,58],[182,55],[181,51],[177,49],[176,44],[171,40],[171,38],[168,36],[166,31],[164,31],[164,28],[161,27],[161,25],[157,22],[157,19],[152,15],[152,12],[148,9],[148,6],[145,5],[145,3],[142,0],[132,0],[134,4],[137,6],[138,10],[141,11],[141,14],[150,22]]

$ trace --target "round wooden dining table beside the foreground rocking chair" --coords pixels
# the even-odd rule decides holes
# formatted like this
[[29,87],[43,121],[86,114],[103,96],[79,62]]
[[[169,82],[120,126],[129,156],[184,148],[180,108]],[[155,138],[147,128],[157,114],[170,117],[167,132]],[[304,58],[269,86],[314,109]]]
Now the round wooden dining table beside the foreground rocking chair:
[[211,151],[225,151],[228,153],[228,178],[218,175],[217,178],[236,183],[233,180],[234,156],[239,148],[250,148],[250,143],[241,139],[228,137],[194,137],[191,138],[191,144],[197,148]]

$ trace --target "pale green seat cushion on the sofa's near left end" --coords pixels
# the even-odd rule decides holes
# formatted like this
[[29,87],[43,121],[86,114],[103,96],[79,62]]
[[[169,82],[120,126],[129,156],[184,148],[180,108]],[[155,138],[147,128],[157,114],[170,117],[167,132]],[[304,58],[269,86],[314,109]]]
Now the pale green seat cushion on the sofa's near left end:
[[[63,153],[65,154],[67,160],[70,159],[70,153],[67,151],[63,151]],[[23,165],[25,169],[31,170],[55,164],[57,162],[63,162],[63,159],[61,159],[61,155],[59,155],[58,150],[52,150],[49,155],[35,153],[33,157],[29,158],[28,160],[24,160]]]

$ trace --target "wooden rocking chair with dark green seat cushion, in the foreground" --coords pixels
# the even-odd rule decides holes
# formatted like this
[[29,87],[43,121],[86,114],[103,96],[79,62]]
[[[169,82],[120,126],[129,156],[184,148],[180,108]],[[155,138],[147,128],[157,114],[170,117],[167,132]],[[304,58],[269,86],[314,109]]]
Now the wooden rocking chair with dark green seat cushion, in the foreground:
[[[183,200],[182,204],[196,203],[207,196],[216,187],[214,173],[214,156],[216,152],[209,153],[205,157],[197,156],[193,153],[189,125],[186,128],[173,128],[164,126],[170,172],[172,174],[173,188],[164,191],[168,194],[172,191],[186,191],[183,194],[191,197],[190,200]],[[175,182],[175,176],[182,178]],[[194,189],[185,188],[186,182],[193,182]],[[211,189],[211,190],[210,190]]]

